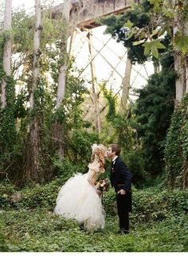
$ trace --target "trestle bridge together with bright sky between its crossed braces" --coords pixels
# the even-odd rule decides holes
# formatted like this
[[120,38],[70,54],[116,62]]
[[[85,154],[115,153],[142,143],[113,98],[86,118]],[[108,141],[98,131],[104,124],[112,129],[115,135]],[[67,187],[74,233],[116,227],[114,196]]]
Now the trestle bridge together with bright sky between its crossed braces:
[[[53,9],[53,17],[60,15],[62,8],[63,4],[56,6]],[[83,66],[80,66],[81,70],[77,75],[78,77],[88,78],[92,83],[90,87],[91,98],[85,103],[84,118],[95,122],[98,132],[100,132],[100,115],[105,110],[106,103],[102,102],[102,98],[100,98],[100,88],[98,85],[101,82],[101,78],[98,78],[99,72],[96,72],[96,68],[99,65],[107,65],[108,70],[110,69],[108,78],[104,78],[104,80],[108,87],[115,90],[115,95],[119,95],[119,98],[121,98],[121,112],[127,109],[127,103],[132,100],[131,96],[133,93],[130,94],[130,88],[136,83],[139,83],[139,85],[146,83],[148,73],[151,74],[152,72],[152,69],[147,71],[146,66],[132,66],[131,62],[127,59],[127,50],[123,46],[123,52],[119,55],[117,50],[114,49],[119,44],[116,43],[114,48],[110,46],[110,42],[114,41],[114,39],[110,36],[101,39],[101,34],[97,36],[95,33],[96,27],[100,26],[100,23],[97,22],[99,18],[109,14],[122,14],[129,8],[131,8],[131,0],[72,0],[71,2],[70,30],[72,34],[69,42],[69,54],[75,58],[76,63],[81,54],[82,59],[87,59],[87,62],[83,62]],[[96,41],[100,42],[100,46],[96,46]],[[104,50],[108,50],[109,54],[104,54]],[[116,61],[110,58],[112,54],[115,56]],[[101,64],[96,64],[99,56]],[[123,71],[119,69],[119,66],[123,66]],[[101,72],[103,72],[102,68]],[[112,81],[115,76],[119,82],[114,80],[114,85],[116,84],[116,86],[113,86]]]

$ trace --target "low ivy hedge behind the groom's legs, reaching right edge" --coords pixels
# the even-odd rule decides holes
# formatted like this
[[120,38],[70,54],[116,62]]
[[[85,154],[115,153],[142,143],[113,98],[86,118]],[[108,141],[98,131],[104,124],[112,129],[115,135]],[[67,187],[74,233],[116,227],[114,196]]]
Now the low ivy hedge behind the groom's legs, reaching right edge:
[[[132,190],[131,222],[162,221],[172,216],[185,214],[187,207],[188,190]],[[104,210],[106,214],[115,215],[116,194],[110,189],[104,194]]]

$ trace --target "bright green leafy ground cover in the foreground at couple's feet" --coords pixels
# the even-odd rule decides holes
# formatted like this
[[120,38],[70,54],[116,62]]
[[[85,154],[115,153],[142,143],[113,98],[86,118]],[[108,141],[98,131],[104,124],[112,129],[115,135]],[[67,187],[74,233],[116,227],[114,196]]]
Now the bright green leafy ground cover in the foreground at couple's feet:
[[[104,230],[88,233],[77,222],[48,209],[1,210],[4,251],[44,252],[181,252],[188,250],[187,216],[160,222],[131,223],[130,234],[119,235],[117,216],[106,216]],[[1,241],[0,241],[1,243]],[[0,246],[1,248],[1,246]],[[1,250],[0,250],[1,251]]]

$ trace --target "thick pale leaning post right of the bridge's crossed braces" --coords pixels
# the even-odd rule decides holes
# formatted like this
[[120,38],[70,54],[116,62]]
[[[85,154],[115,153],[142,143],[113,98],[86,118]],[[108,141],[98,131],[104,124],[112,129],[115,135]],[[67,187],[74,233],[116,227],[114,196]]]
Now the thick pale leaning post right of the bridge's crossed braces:
[[127,110],[127,100],[130,89],[130,81],[131,81],[131,61],[127,58],[124,78],[122,80],[122,96],[121,96],[121,105],[119,108],[119,113],[125,114]]

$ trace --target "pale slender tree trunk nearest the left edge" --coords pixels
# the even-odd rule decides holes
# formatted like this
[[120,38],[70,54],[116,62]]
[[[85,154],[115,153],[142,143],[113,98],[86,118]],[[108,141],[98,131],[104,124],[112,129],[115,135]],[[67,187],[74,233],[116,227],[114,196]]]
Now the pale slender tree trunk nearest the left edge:
[[[5,18],[4,18],[4,32],[9,33],[9,36],[6,38],[6,42],[4,44],[3,49],[3,70],[6,76],[10,76],[11,74],[11,22],[12,22],[12,0],[6,0],[6,10],[5,10]],[[6,78],[2,79],[2,108],[6,106]]]

